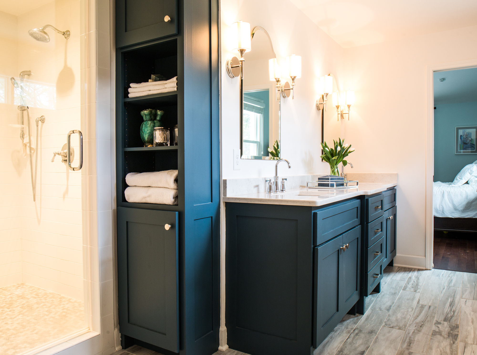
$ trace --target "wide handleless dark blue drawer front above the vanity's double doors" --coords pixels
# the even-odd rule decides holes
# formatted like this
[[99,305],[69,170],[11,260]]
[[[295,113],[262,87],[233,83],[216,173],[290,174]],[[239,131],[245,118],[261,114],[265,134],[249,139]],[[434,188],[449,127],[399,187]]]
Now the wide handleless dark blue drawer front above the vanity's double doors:
[[313,245],[320,245],[360,224],[360,200],[313,212]]

